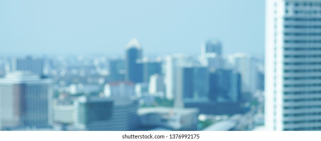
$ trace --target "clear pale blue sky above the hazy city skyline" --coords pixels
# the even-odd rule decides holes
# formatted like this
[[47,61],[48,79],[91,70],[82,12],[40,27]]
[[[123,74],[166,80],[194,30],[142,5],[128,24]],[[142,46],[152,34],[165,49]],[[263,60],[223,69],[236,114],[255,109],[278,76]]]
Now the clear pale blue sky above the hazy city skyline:
[[0,1],[1,54],[199,54],[218,38],[223,54],[264,54],[263,0]]

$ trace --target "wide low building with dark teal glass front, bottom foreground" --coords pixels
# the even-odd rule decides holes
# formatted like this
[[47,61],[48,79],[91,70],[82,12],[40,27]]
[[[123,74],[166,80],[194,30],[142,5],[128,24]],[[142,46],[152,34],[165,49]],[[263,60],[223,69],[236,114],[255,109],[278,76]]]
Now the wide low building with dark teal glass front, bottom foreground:
[[71,130],[128,131],[140,125],[139,103],[130,98],[82,97],[75,102],[76,119]]

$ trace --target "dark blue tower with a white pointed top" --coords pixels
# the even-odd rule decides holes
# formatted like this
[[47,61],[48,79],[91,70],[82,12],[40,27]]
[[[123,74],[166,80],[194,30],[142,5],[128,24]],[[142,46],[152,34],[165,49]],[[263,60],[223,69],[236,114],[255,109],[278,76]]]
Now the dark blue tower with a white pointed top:
[[126,81],[134,83],[143,82],[143,63],[141,63],[141,59],[142,49],[138,40],[134,38],[127,44],[126,49]]

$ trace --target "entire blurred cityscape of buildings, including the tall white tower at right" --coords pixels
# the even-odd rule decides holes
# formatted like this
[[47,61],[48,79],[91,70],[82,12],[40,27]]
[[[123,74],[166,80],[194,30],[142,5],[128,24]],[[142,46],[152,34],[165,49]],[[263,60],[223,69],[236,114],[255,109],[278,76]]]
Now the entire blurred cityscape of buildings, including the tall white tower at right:
[[204,130],[320,130],[321,1],[266,7],[265,67],[220,40],[199,56],[147,58],[132,39],[124,58],[1,57],[0,129],[199,130],[203,114],[233,115]]

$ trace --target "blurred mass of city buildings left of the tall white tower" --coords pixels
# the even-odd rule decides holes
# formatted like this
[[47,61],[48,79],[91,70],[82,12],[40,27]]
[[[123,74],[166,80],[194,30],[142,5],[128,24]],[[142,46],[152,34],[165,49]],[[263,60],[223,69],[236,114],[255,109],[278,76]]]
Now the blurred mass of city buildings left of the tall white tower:
[[257,61],[223,57],[218,40],[207,41],[199,57],[148,59],[142,50],[132,39],[124,59],[2,59],[0,128],[198,130],[198,114],[245,113],[262,90],[252,83],[263,73]]

